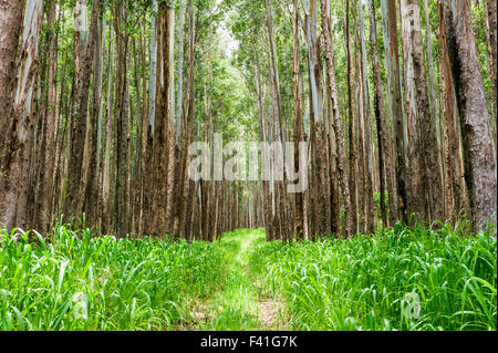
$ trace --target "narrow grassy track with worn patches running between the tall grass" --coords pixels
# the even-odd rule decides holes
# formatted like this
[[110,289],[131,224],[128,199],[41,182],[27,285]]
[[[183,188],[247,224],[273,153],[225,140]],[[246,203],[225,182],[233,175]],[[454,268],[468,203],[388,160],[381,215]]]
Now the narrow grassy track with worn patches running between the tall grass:
[[240,230],[228,235],[220,246],[226,250],[226,277],[209,299],[190,307],[187,330],[286,330],[283,305],[262,289],[248,261],[264,235]]

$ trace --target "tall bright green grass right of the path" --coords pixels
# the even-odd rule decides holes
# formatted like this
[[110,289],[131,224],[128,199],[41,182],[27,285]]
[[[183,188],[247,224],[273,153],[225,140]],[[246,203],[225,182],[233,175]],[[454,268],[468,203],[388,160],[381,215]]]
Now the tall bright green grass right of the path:
[[375,237],[258,247],[250,266],[284,297],[293,329],[496,330],[497,240],[489,231],[396,225]]

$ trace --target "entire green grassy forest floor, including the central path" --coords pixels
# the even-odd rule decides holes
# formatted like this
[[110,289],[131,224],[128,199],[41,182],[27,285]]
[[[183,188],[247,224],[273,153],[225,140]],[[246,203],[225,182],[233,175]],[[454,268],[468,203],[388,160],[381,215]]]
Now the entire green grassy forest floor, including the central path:
[[[0,330],[496,330],[496,231],[282,245],[0,236]],[[269,308],[272,307],[272,308]]]

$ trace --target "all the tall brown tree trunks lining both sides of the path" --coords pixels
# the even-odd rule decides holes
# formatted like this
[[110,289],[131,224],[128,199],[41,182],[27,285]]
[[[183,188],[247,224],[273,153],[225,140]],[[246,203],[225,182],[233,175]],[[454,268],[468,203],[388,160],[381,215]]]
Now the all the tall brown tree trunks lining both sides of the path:
[[[260,24],[251,30],[258,50],[248,59],[256,74],[248,85],[256,91],[260,139],[283,143],[293,135],[293,167],[301,180],[300,142],[310,143],[309,188],[297,195],[288,193],[293,173],[286,168],[272,168],[270,180],[260,183],[189,177],[190,144],[204,135],[214,148],[217,129],[211,106],[217,77],[205,41],[214,37],[214,25],[203,28],[203,3],[179,2],[176,50],[175,9],[168,2],[153,1],[157,18],[152,31],[136,31],[148,23],[127,0],[74,3],[72,53],[59,52],[60,37],[69,35],[59,31],[66,28],[59,21],[65,2],[0,4],[0,104],[7,112],[0,117],[3,227],[48,231],[64,215],[120,237],[170,233],[191,242],[263,224],[268,240],[291,242],[372,233],[380,222],[409,222],[414,214],[433,222],[466,212],[474,230],[492,220],[496,100],[488,106],[469,0],[438,1],[438,65],[427,0],[425,37],[422,4],[415,0],[382,0],[380,9],[369,1],[370,31],[361,0],[344,3],[344,25],[336,25],[334,9],[324,0],[293,1],[288,13],[280,2],[259,4],[262,11],[251,20]],[[496,93],[496,4],[483,3]],[[276,35],[290,29],[281,28],[286,17],[292,53]],[[343,73],[334,63],[339,28],[344,29]],[[292,71],[286,69],[291,61]],[[336,75],[345,89],[339,94]],[[440,77],[440,92],[435,77]],[[263,157],[279,166],[278,158]]]

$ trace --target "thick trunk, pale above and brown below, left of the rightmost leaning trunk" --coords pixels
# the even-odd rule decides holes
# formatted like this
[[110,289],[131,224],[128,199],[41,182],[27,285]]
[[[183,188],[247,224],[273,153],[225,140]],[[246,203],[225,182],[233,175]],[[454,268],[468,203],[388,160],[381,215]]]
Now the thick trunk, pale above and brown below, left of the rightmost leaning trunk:
[[[405,87],[409,135],[409,212],[429,222],[443,219],[444,198],[439,175],[438,143],[433,128],[417,0],[401,0]],[[436,166],[434,165],[436,164]]]

